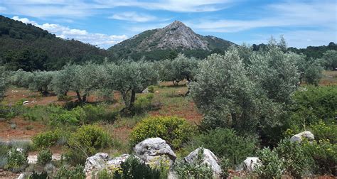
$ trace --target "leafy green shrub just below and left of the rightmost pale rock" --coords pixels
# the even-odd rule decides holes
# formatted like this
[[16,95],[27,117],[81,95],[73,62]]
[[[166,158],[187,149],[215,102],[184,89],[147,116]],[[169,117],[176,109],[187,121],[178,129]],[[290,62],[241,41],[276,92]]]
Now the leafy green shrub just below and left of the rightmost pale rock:
[[282,140],[277,146],[276,152],[279,158],[283,159],[287,174],[301,178],[301,175],[309,169],[308,158],[304,155],[303,148],[299,143]]

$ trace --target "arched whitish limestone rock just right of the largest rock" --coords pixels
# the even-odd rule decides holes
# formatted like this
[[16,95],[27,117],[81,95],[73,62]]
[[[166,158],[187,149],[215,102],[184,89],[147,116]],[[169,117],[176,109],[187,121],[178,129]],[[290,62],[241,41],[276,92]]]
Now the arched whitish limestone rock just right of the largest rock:
[[[198,158],[198,151],[200,149],[201,148],[197,148],[195,151],[188,154],[188,156],[183,158],[184,161],[186,161],[187,163],[195,162]],[[214,175],[220,175],[222,173],[221,167],[218,164],[218,162],[219,160],[217,156],[215,156],[215,154],[212,151],[203,148],[203,163],[207,164],[208,166],[210,166],[210,168],[212,168]]]

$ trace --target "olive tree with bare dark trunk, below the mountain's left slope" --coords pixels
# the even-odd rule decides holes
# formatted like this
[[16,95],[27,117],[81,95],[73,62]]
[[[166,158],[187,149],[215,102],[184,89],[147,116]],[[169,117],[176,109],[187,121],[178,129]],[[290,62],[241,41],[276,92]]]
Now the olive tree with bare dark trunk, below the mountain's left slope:
[[125,108],[130,111],[133,111],[136,93],[143,91],[149,85],[156,85],[159,79],[154,63],[144,61],[112,64],[107,71],[110,75],[108,87],[113,87],[121,93]]

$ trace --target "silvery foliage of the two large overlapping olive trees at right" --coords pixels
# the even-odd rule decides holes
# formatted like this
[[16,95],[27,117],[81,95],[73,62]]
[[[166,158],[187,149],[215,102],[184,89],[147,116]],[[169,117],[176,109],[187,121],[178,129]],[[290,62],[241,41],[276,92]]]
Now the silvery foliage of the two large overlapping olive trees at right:
[[295,54],[270,45],[245,55],[246,64],[241,52],[232,47],[225,55],[213,54],[200,63],[191,96],[207,129],[256,131],[280,124],[279,115],[299,85]]

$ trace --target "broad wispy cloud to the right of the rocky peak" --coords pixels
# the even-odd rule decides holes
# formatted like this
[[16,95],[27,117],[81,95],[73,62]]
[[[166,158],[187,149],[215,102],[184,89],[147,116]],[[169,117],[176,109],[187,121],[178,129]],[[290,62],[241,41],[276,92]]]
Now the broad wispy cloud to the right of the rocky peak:
[[252,20],[199,20],[188,24],[201,31],[237,32],[251,28],[266,27],[327,27],[336,29],[336,2],[287,1],[282,4],[271,4],[264,7],[268,17]]

